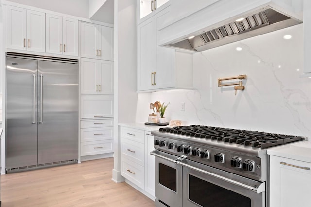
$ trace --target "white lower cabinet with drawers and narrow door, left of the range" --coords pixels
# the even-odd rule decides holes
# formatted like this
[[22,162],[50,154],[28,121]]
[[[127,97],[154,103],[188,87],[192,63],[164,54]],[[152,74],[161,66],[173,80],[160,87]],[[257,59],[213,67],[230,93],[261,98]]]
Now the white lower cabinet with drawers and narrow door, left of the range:
[[131,127],[120,127],[121,175],[148,197],[155,198],[155,157],[153,135]]

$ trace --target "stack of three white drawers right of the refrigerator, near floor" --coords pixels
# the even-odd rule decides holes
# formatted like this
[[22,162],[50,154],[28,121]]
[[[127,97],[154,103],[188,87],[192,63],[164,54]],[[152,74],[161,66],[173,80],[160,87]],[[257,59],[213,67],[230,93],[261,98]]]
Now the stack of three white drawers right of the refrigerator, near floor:
[[113,119],[82,120],[80,126],[81,156],[113,152]]

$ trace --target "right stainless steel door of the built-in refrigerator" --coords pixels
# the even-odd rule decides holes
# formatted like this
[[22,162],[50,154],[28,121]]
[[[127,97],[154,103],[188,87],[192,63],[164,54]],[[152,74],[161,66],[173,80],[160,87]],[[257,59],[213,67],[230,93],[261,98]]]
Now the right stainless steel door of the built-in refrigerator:
[[78,64],[38,61],[38,122],[38,164],[78,159]]

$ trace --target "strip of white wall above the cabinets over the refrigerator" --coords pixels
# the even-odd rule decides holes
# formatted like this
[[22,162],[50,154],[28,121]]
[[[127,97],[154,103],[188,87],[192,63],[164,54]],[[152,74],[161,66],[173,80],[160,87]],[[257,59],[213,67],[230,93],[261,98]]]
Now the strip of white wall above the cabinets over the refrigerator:
[[88,0],[7,0],[54,12],[88,18]]

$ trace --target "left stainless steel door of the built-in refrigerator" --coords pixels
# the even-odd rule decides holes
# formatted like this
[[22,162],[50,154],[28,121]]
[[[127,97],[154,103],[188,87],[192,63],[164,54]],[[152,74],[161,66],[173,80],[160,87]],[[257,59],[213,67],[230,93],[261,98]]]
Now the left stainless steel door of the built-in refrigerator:
[[37,61],[6,61],[6,168],[36,165]]

